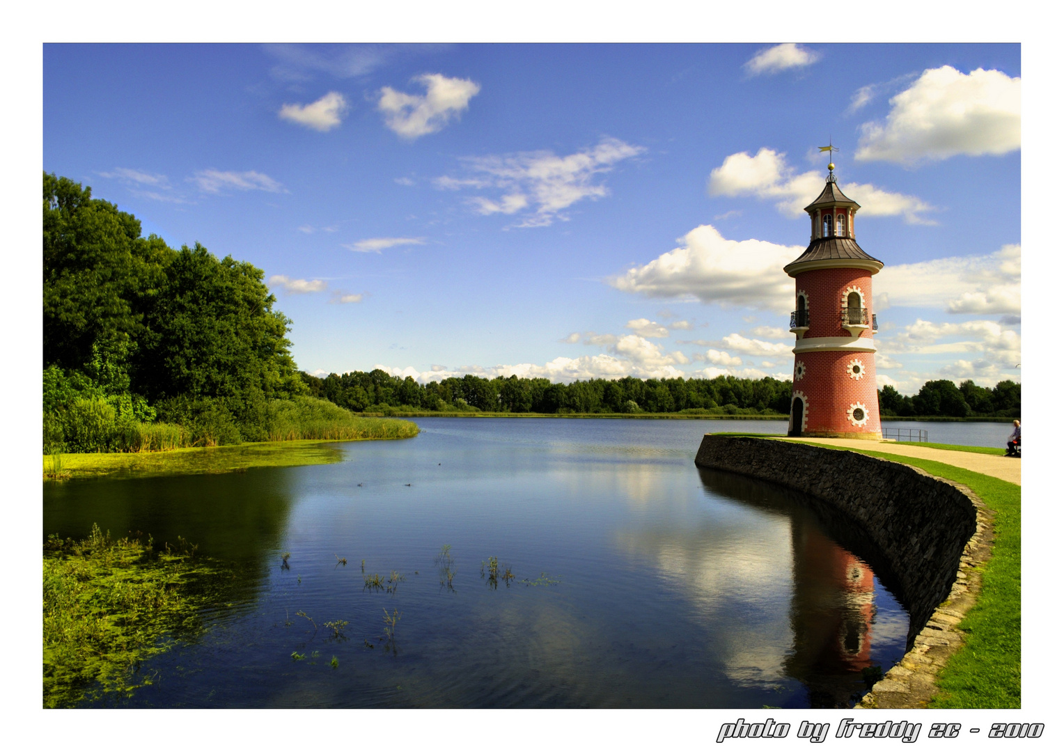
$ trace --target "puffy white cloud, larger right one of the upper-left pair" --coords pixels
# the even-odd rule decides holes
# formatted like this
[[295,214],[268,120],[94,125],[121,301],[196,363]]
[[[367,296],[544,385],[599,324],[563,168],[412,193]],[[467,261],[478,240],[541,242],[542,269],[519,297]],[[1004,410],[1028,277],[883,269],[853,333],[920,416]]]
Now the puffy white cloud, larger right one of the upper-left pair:
[[385,124],[403,138],[413,139],[442,130],[451,118],[466,110],[469,100],[480,91],[480,84],[468,79],[449,79],[440,73],[425,73],[414,81],[425,86],[423,95],[405,94],[385,86],[377,100]]

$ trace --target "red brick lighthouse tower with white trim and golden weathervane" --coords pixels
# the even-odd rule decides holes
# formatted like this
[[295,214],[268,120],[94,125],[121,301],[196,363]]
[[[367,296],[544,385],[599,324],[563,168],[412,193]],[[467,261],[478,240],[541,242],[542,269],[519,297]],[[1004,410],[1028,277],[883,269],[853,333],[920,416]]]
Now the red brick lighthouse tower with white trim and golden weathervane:
[[787,435],[880,438],[871,275],[883,262],[853,239],[861,206],[838,189],[834,169],[828,165],[824,190],[805,207],[813,222],[809,248],[783,267],[795,278],[796,308]]

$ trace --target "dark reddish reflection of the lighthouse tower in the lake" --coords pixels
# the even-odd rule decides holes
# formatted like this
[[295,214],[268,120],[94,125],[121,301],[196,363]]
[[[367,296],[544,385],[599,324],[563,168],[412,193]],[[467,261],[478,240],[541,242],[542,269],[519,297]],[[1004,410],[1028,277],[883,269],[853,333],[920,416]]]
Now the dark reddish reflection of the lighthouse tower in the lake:
[[864,689],[861,670],[871,665],[871,568],[797,519],[792,540],[795,642],[784,668],[805,683],[812,707],[850,707]]

